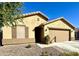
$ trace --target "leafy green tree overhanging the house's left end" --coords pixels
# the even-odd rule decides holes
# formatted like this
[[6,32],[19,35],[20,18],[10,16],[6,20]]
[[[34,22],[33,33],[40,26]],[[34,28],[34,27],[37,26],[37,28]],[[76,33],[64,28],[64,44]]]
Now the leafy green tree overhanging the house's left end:
[[[3,26],[16,25],[20,19],[15,19],[21,15],[20,8],[22,7],[21,2],[1,2],[0,3],[0,32],[2,32]],[[0,42],[2,39],[0,38]],[[0,43],[2,45],[2,43]]]

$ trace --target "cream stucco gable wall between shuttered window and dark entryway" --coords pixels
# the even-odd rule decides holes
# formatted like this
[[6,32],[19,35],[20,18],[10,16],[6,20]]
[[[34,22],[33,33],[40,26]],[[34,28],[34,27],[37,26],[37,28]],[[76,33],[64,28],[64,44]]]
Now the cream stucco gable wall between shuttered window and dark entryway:
[[[39,18],[39,21],[37,21],[37,18]],[[25,18],[24,23],[26,26],[29,26],[29,38],[35,37],[34,28],[44,22],[46,21],[37,15]]]

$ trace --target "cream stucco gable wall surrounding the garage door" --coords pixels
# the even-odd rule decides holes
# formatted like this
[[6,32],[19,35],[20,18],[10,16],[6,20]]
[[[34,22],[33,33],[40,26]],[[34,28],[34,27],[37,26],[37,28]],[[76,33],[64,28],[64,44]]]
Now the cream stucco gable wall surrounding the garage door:
[[[58,20],[56,22],[52,22],[52,23],[45,25],[44,26],[44,34],[45,34],[44,36],[49,34],[49,29],[47,27],[71,29],[71,38],[72,38],[72,40],[75,40],[75,31],[61,20]],[[45,31],[46,29],[47,29],[47,31]]]

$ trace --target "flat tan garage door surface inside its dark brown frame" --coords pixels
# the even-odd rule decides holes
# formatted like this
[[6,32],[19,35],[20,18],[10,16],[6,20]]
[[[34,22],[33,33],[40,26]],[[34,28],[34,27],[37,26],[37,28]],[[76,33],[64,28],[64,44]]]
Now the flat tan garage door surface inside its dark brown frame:
[[63,42],[69,40],[69,31],[67,30],[49,30],[50,40]]

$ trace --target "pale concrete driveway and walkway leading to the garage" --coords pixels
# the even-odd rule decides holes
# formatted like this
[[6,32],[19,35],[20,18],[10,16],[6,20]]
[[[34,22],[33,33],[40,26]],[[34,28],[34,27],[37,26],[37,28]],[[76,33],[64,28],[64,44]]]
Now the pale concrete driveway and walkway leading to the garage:
[[66,41],[62,43],[53,43],[49,45],[37,44],[41,48],[45,47],[57,47],[70,52],[79,52],[79,41]]

